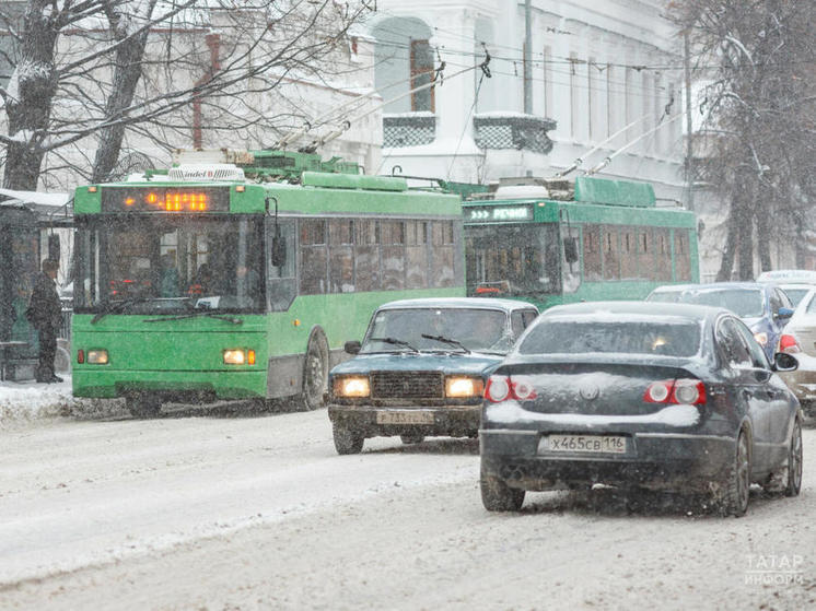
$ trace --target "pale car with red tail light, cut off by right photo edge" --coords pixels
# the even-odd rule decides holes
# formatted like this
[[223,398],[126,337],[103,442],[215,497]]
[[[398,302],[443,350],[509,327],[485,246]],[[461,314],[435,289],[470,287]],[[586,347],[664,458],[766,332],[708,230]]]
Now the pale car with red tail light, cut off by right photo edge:
[[816,286],[802,298],[779,338],[779,351],[798,361],[795,372],[781,374],[808,415],[816,416]]

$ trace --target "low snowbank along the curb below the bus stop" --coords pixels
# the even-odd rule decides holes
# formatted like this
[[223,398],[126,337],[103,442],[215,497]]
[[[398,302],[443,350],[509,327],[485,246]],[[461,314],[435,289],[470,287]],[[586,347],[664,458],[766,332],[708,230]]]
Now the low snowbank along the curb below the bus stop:
[[60,377],[63,381],[57,384],[0,381],[0,430],[13,423],[70,414],[74,407],[71,376]]

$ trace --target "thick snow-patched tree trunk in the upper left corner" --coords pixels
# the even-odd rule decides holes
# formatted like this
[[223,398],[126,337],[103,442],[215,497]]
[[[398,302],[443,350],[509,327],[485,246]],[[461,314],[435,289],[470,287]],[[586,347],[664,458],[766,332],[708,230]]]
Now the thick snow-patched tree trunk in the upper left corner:
[[[33,191],[45,156],[51,102],[57,91],[54,52],[59,13],[48,0],[31,0],[23,17],[20,61],[9,84],[5,114],[9,134],[3,187]],[[16,87],[14,86],[16,85]]]

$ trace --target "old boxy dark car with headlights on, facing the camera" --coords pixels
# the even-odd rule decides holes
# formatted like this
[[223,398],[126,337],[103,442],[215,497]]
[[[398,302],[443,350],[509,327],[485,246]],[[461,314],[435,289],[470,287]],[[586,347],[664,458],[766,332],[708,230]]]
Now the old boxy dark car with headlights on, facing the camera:
[[338,454],[368,437],[476,437],[485,383],[538,316],[513,299],[403,299],[374,313],[357,356],[329,372],[328,415]]

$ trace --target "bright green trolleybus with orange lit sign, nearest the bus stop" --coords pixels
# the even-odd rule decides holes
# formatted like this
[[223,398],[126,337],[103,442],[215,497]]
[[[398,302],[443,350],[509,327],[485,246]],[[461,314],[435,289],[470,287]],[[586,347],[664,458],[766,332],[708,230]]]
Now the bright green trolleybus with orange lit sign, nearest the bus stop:
[[464,295],[458,196],[316,155],[222,155],[77,189],[74,396],[141,416],[165,401],[314,409],[378,305]]

